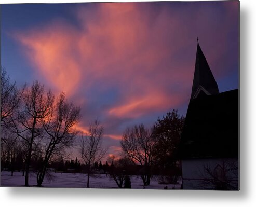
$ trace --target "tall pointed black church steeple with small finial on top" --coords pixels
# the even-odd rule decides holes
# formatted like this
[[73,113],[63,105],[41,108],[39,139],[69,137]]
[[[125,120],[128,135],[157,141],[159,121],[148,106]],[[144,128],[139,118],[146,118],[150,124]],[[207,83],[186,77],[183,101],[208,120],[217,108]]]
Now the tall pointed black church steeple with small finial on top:
[[199,95],[213,95],[218,93],[219,89],[217,82],[212,75],[210,67],[206,61],[203,51],[200,48],[197,38],[196,65],[191,99],[195,99]]

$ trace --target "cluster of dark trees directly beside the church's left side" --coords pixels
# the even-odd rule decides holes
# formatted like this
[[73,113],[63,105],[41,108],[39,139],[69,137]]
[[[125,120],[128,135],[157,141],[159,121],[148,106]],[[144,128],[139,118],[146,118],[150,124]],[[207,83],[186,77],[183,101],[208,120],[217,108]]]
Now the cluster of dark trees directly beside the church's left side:
[[120,141],[121,157],[109,157],[113,164],[110,175],[118,187],[122,187],[131,169],[144,186],[150,185],[153,175],[160,176],[161,184],[176,184],[181,176],[178,146],[183,123],[184,117],[173,110],[158,118],[152,128],[143,124],[126,128]]

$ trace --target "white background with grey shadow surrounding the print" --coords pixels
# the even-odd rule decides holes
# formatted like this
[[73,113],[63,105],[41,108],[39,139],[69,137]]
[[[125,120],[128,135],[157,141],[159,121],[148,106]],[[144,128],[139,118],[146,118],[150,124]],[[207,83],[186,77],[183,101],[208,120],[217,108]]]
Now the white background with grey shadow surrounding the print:
[[[86,1],[12,1],[58,3]],[[89,1],[88,1],[89,2]],[[93,1],[106,2],[106,1]],[[115,1],[111,1],[115,2]],[[127,1],[128,2],[128,1]],[[1,206],[253,206],[256,203],[255,2],[240,1],[240,191],[0,187]],[[254,53],[253,53],[254,52]],[[254,65],[254,68],[252,67]]]

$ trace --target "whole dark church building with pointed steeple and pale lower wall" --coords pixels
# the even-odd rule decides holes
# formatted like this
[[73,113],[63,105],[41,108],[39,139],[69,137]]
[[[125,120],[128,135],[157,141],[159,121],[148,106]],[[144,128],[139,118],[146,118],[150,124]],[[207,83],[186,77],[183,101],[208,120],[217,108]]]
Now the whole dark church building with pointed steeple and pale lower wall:
[[179,159],[182,189],[239,190],[239,89],[219,91],[199,43]]

